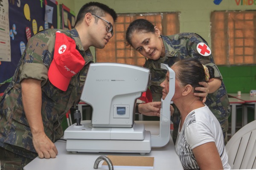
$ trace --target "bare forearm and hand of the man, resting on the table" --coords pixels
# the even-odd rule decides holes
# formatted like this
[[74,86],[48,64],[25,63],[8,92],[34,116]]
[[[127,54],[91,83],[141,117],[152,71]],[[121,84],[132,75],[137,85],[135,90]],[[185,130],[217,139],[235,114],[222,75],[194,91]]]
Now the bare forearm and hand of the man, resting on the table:
[[55,158],[58,150],[44,133],[41,117],[42,91],[41,81],[23,79],[21,82],[23,107],[32,132],[32,140],[39,158]]

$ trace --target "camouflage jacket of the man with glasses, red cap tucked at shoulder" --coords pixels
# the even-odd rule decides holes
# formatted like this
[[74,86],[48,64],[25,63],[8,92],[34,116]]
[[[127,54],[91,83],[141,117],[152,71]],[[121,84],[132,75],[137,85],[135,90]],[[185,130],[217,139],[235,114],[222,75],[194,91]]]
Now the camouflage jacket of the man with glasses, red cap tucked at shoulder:
[[56,31],[58,29],[43,30],[28,41],[12,82],[0,100],[0,147],[8,149],[8,144],[11,144],[35,152],[32,133],[22,104],[20,82],[23,79],[41,80],[41,115],[44,132],[52,142],[63,136],[62,119],[67,111],[80,101],[89,64],[93,61],[92,54],[89,49],[84,51],[76,29],[59,30],[75,40],[76,49],[84,57],[85,66],[72,77],[67,91],[56,88],[48,80],[49,65],[54,56]]

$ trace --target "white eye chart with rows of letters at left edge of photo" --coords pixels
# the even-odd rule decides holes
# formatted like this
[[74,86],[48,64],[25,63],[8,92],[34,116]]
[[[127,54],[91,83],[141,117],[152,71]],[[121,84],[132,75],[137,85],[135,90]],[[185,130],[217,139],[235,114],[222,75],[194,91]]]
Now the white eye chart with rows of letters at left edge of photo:
[[16,26],[9,29],[9,3],[8,0],[0,0],[0,61],[11,61],[10,37],[14,37]]

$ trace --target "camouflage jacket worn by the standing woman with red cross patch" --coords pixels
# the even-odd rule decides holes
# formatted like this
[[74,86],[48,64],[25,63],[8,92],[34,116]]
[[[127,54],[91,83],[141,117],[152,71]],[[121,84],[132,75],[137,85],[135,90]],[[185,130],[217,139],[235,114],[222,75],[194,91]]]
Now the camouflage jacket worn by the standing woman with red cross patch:
[[[214,63],[212,54],[204,57],[197,51],[199,42],[207,42],[198,34],[180,33],[171,36],[162,36],[165,46],[166,57],[161,57],[157,60],[148,59],[145,62],[145,67],[151,71],[151,86],[150,90],[154,101],[160,101],[162,97],[162,88],[160,83],[163,82],[166,76],[166,70],[160,68],[161,63],[165,63],[170,67],[175,61],[183,58],[196,58],[204,65],[210,65],[215,70],[215,78],[221,79],[221,87],[212,94],[208,94],[205,104],[210,108],[221,124],[222,130],[228,130],[228,116],[230,115],[230,104],[228,101],[227,91],[225,89],[222,76],[217,66]],[[174,123],[179,120],[174,120]]]

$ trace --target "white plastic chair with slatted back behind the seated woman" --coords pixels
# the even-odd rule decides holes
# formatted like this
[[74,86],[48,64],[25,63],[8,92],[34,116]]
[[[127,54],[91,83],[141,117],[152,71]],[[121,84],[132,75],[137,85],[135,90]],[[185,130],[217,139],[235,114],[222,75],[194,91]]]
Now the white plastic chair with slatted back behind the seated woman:
[[231,137],[226,151],[231,169],[256,169],[256,120]]

